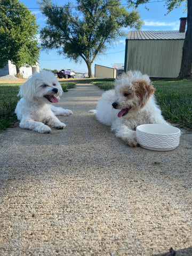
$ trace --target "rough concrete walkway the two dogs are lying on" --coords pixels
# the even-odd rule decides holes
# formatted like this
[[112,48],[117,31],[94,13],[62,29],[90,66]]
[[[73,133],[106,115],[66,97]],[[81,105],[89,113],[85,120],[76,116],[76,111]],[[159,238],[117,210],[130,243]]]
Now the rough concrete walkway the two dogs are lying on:
[[192,255],[191,134],[131,148],[88,113],[102,92],[65,93],[64,130],[0,134],[0,255]]

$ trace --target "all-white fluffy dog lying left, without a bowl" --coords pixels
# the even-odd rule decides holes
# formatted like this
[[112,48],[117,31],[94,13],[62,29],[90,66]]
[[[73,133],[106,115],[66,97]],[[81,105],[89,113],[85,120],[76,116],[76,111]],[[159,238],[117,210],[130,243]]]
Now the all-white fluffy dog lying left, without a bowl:
[[61,85],[53,73],[42,71],[30,76],[27,82],[20,86],[18,94],[22,97],[15,109],[20,120],[19,126],[41,133],[51,132],[48,125],[63,129],[66,125],[55,115],[68,116],[73,114],[72,111],[50,105],[57,103],[62,93]]

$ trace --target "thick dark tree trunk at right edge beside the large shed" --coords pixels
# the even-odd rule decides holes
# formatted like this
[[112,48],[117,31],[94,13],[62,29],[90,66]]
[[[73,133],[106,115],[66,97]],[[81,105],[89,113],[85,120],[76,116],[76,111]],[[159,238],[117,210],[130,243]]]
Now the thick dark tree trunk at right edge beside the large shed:
[[187,31],[182,48],[179,79],[192,77],[192,1],[187,2]]

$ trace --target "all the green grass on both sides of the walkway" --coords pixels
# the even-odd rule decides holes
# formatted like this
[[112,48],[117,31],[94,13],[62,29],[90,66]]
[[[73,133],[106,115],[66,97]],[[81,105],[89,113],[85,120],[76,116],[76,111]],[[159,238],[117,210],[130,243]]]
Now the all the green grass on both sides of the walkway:
[[[97,81],[97,82],[96,82]],[[64,92],[75,86],[73,82],[60,84]],[[113,79],[83,79],[81,83],[93,83],[103,90],[114,88]],[[167,121],[192,129],[192,82],[154,81],[155,97]],[[17,121],[14,109],[19,101],[19,84],[0,84],[0,131]]]

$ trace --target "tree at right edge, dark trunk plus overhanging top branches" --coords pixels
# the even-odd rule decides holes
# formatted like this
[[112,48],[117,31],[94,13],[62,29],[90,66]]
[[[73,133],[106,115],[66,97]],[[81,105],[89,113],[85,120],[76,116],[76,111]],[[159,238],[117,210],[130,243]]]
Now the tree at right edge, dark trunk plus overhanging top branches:
[[[127,0],[129,6],[138,7],[140,4],[148,3],[149,0]],[[174,8],[178,8],[183,2],[187,4],[187,31],[182,48],[181,68],[179,79],[192,77],[192,0],[167,0],[167,14]]]

